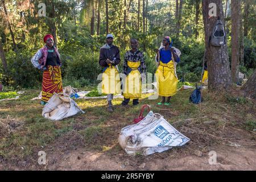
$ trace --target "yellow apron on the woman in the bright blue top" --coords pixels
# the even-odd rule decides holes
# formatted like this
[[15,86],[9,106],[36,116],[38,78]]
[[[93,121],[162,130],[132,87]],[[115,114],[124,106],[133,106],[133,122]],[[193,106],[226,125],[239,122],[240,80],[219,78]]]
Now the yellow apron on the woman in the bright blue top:
[[160,61],[160,65],[155,73],[159,96],[174,96],[177,92],[178,82],[175,75],[174,62],[171,60],[169,63],[164,64]]

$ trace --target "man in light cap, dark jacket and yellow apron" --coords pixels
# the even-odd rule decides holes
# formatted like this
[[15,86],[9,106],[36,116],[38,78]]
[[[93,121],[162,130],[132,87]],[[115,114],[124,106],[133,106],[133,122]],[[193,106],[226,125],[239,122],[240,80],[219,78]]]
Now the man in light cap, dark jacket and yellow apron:
[[117,46],[113,45],[114,36],[106,36],[106,44],[101,47],[99,64],[104,67],[102,74],[102,93],[107,94],[108,111],[113,112],[113,96],[121,93],[121,82],[117,65],[120,63],[120,54]]

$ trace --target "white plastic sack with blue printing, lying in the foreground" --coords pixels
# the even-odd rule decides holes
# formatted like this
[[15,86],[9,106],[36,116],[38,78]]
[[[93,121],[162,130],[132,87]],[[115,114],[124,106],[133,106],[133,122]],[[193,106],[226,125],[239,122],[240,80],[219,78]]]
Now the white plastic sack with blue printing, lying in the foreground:
[[160,114],[150,111],[141,122],[123,127],[118,142],[129,155],[163,152],[172,147],[183,146],[189,138],[179,133]]

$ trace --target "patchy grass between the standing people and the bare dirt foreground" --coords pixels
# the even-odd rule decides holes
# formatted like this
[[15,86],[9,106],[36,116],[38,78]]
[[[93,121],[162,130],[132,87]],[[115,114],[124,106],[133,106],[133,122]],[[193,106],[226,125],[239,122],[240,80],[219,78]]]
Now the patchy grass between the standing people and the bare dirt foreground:
[[[129,106],[123,107],[122,100],[118,98],[113,101],[114,113],[106,111],[105,99],[76,100],[85,114],[52,122],[42,117],[40,101],[31,101],[31,98],[38,96],[39,90],[26,90],[19,100],[1,102],[0,159],[20,160],[32,156],[36,160],[42,147],[47,150],[62,140],[71,146],[81,144],[87,150],[109,155],[123,152],[118,147],[119,132],[122,127],[130,125],[133,118],[138,117],[142,104],[150,105],[154,113],[163,115],[177,130],[191,138],[194,144],[198,142],[201,146],[215,140],[209,138],[208,134],[220,133],[228,126],[249,131],[255,129],[254,101],[243,97],[237,100],[237,96],[203,90],[204,102],[194,105],[189,103],[191,92],[177,92],[171,99],[171,106],[156,105],[161,98],[148,100],[150,94],[143,94],[137,106],[132,106],[130,102]],[[207,122],[213,124],[205,124]],[[71,133],[72,136],[67,137]],[[81,140],[73,139],[75,135]],[[69,140],[65,140],[67,138]]]

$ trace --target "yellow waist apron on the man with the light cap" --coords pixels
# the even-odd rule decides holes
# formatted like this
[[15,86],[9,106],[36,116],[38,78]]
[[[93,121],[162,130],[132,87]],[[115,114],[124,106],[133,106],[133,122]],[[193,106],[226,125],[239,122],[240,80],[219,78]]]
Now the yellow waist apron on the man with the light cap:
[[121,93],[121,82],[117,68],[109,64],[109,67],[102,74],[102,93]]

